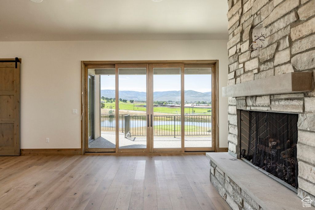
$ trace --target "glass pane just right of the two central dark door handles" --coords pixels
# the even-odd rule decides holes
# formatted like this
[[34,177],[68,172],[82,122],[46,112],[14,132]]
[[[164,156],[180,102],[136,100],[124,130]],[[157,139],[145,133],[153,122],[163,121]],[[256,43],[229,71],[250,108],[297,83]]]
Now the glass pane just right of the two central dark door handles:
[[181,148],[181,68],[153,68],[153,148]]

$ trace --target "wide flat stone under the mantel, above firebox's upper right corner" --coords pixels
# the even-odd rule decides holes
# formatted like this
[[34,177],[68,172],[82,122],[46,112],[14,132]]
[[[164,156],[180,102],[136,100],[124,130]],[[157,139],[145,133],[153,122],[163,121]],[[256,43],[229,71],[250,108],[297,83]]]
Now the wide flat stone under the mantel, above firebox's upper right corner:
[[272,111],[303,112],[303,100],[274,100],[271,103]]

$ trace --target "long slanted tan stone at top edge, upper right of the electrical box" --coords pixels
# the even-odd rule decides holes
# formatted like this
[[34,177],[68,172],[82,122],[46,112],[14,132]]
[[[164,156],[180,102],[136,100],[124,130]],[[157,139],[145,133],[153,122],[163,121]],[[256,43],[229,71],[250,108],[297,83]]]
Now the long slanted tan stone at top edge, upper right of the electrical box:
[[285,0],[283,3],[279,4],[275,9],[272,10],[270,15],[264,20],[264,26],[270,25],[272,22],[281,18],[289,11],[299,6],[300,0]]

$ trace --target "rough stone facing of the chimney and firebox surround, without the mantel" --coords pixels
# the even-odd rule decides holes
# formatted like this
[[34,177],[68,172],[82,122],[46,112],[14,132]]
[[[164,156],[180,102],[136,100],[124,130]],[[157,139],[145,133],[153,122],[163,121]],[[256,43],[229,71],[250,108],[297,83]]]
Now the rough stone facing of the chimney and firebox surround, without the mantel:
[[[315,70],[315,0],[228,0],[228,85]],[[263,21],[266,41],[251,51],[252,29]],[[239,158],[237,109],[299,114],[298,196],[315,195],[315,90],[229,98],[228,152]],[[315,202],[312,202],[314,205]]]

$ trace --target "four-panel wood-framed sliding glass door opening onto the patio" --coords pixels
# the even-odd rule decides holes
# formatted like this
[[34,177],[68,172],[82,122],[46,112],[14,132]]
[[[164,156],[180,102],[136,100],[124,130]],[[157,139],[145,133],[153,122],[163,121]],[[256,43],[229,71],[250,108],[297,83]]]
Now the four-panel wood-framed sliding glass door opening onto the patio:
[[[94,65],[97,67],[97,65]],[[94,68],[100,77],[100,134],[90,152],[213,151],[213,64],[114,63]],[[91,70],[92,72],[92,70]],[[92,77],[89,76],[89,93]],[[97,91],[95,91],[97,92]],[[92,115],[91,115],[92,116]]]

